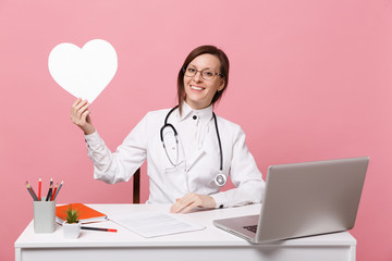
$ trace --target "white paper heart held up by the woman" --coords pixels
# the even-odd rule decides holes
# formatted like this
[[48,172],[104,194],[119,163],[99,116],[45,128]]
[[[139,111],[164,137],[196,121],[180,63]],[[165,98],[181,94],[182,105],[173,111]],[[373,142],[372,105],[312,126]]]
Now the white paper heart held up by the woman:
[[63,42],[51,50],[48,65],[62,88],[91,103],[114,77],[118,57],[114,48],[101,39],[90,40],[82,49]]

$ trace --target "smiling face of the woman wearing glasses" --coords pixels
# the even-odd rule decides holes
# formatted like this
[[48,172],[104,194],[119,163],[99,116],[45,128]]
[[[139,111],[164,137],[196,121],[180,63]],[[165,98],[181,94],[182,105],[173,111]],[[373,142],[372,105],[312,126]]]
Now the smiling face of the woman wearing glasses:
[[[220,72],[220,61],[216,55],[205,53],[196,57],[188,64],[197,71],[210,70]],[[216,75],[212,79],[206,80],[201,77],[201,72],[195,76],[184,75],[185,102],[194,110],[200,110],[211,104],[212,98],[217,91],[222,90],[224,80]]]

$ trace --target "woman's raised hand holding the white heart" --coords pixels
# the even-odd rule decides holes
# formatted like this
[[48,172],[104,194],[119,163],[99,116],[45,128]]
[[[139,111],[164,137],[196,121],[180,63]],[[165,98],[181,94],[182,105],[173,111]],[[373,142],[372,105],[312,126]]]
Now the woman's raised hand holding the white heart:
[[87,102],[87,100],[82,100],[82,98],[77,98],[77,100],[71,107],[71,121],[76,126],[78,126],[85,135],[95,133],[95,127],[89,116],[89,105],[90,104]]

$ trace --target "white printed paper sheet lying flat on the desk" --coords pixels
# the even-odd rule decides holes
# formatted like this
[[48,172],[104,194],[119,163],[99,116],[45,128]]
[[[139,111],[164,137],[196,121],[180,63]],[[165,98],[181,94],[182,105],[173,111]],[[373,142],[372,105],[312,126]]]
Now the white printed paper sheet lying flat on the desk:
[[109,217],[143,237],[157,237],[205,228],[205,226],[184,221],[176,214],[170,213],[130,213]]

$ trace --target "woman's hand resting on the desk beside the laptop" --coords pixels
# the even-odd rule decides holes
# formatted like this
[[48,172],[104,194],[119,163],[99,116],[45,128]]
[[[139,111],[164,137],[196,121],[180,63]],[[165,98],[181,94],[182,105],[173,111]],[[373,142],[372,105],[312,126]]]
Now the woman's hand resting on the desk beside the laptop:
[[170,208],[170,212],[187,213],[197,207],[213,209],[216,204],[217,203],[211,196],[189,192],[184,197],[182,197],[181,199],[176,199],[175,203]]

